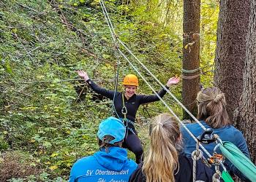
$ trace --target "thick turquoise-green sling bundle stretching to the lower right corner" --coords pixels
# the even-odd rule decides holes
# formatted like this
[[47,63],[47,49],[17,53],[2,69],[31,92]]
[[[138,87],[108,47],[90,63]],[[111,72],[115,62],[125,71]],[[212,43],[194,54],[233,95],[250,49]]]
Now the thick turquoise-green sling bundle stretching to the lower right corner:
[[256,166],[233,143],[224,141],[219,145],[222,154],[235,165],[249,180],[256,181]]

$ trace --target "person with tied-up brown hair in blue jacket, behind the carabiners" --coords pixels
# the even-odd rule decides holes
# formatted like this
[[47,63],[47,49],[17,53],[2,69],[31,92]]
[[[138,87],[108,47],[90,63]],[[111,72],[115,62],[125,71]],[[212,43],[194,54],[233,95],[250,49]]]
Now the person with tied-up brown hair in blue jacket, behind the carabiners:
[[[230,141],[237,146],[246,157],[250,158],[244,135],[231,124],[227,115],[225,94],[219,90],[219,88],[207,87],[198,92],[197,108],[197,118],[204,127],[211,128],[213,133],[219,135],[219,138],[221,138],[222,141]],[[195,137],[202,135],[203,133],[203,128],[197,123],[186,124],[186,127],[193,135],[195,135]],[[184,153],[190,157],[192,152],[195,151],[196,143],[184,127],[181,127],[181,133],[184,138]],[[210,154],[213,154],[216,145],[216,143],[203,144]],[[222,154],[219,149],[217,149],[217,153]],[[205,153],[204,156],[207,158]],[[246,179],[246,177],[228,159],[225,159],[224,165],[231,175],[236,174],[243,181],[248,181],[248,179]]]

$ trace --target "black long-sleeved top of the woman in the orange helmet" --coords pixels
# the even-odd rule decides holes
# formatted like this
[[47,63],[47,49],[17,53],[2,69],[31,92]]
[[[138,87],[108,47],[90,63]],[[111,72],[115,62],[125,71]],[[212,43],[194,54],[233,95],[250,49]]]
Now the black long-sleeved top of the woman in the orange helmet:
[[[95,84],[91,79],[87,80],[87,83],[91,87],[94,92],[99,93],[100,95],[105,96],[111,100],[114,100],[115,91],[113,90],[106,90],[105,88],[99,87],[99,85]],[[169,87],[166,86],[167,89]],[[166,93],[166,90],[162,89],[158,92],[158,95],[162,98]],[[157,95],[132,95],[129,100],[124,97],[124,104],[127,107],[127,119],[135,122],[135,116],[138,111],[138,108],[143,103],[151,103],[154,101],[159,100]],[[124,118],[124,115],[121,113],[121,109],[123,108],[123,101],[122,101],[122,92],[116,92],[114,106],[116,108],[116,113],[118,114],[118,118]]]

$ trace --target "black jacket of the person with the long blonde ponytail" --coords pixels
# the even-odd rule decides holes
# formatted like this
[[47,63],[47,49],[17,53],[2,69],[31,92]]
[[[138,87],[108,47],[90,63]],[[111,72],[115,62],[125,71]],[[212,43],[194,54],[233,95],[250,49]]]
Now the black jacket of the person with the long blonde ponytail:
[[[192,182],[193,181],[193,160],[179,154],[178,156],[179,170],[175,171],[176,182]],[[142,172],[142,165],[138,165],[138,168],[129,177],[129,182],[146,182],[146,176]],[[197,161],[196,167],[197,181],[212,181],[214,171],[211,168],[206,167],[203,162]]]

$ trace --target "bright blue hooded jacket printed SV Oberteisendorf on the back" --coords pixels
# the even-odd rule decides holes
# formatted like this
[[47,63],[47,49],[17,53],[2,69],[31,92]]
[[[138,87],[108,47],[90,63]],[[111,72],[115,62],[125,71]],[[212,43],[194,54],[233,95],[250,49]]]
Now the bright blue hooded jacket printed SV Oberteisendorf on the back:
[[72,166],[69,182],[90,181],[128,182],[129,175],[137,168],[137,164],[127,159],[127,150],[120,147],[110,147],[97,151],[93,156],[83,157]]

